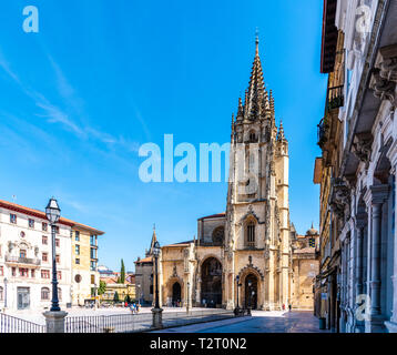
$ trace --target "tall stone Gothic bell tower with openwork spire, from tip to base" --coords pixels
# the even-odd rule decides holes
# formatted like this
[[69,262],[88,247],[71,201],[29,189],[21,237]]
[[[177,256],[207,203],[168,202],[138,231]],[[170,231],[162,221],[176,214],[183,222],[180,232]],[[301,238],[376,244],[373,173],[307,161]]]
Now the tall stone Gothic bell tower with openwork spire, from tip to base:
[[[277,130],[272,90],[267,90],[256,38],[245,100],[232,116],[227,191],[224,303],[279,308],[289,292],[288,142]],[[247,300],[250,298],[250,300]]]

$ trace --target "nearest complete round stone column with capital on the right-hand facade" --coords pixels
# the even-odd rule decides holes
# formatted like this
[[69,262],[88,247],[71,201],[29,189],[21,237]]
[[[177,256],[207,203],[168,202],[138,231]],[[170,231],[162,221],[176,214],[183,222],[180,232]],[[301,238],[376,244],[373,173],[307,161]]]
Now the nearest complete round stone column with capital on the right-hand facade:
[[381,210],[388,197],[388,185],[373,185],[368,191],[371,203],[371,240],[370,240],[370,321],[366,323],[366,332],[384,331],[380,308],[380,267],[381,267]]

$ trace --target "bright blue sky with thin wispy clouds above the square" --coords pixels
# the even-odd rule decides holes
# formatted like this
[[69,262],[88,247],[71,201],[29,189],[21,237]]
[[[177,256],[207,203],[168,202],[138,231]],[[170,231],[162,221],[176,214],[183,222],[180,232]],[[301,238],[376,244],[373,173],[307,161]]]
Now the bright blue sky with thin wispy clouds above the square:
[[[39,33],[22,9],[39,9]],[[140,181],[139,146],[230,141],[231,115],[247,88],[255,29],[265,82],[291,155],[291,217],[318,225],[313,184],[322,1],[13,0],[0,11],[0,199],[103,230],[100,264],[128,270],[149,247],[196,234],[223,212],[225,183]]]

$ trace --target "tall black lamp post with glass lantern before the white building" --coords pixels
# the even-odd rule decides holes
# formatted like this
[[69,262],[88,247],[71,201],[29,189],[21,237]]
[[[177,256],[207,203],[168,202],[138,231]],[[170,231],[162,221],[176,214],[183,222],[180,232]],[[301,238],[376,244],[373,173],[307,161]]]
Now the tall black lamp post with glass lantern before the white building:
[[47,207],[45,207],[45,215],[51,224],[51,241],[52,241],[52,300],[51,300],[51,312],[59,312],[61,311],[59,306],[59,298],[58,298],[58,280],[57,280],[57,253],[55,253],[55,233],[57,226],[60,216],[61,210],[58,205],[58,202],[54,197],[52,197]]

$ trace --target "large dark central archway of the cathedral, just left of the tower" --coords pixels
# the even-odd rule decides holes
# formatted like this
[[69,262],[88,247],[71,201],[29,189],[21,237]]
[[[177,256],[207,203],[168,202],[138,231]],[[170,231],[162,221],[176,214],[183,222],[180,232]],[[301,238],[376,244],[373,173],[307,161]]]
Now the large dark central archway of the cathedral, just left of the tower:
[[202,304],[215,308],[222,305],[222,264],[215,257],[208,257],[201,272]]

